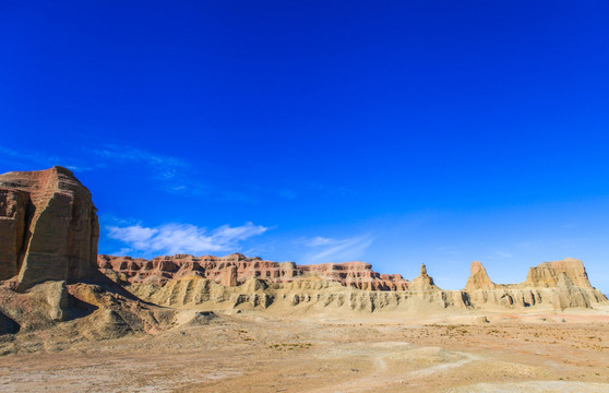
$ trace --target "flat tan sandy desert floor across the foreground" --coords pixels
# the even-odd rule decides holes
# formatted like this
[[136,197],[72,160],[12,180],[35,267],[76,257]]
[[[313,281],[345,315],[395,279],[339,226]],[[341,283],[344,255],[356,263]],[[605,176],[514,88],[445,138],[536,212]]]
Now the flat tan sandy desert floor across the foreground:
[[218,315],[2,356],[0,391],[609,392],[609,309],[487,317]]

